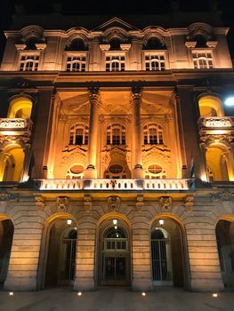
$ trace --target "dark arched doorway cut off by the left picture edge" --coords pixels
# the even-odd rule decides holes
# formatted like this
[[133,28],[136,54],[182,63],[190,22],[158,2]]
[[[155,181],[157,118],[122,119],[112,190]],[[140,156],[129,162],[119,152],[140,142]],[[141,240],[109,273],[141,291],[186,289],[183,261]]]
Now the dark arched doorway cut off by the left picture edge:
[[4,287],[7,275],[12,250],[13,231],[12,220],[4,219],[0,221],[0,289]]

